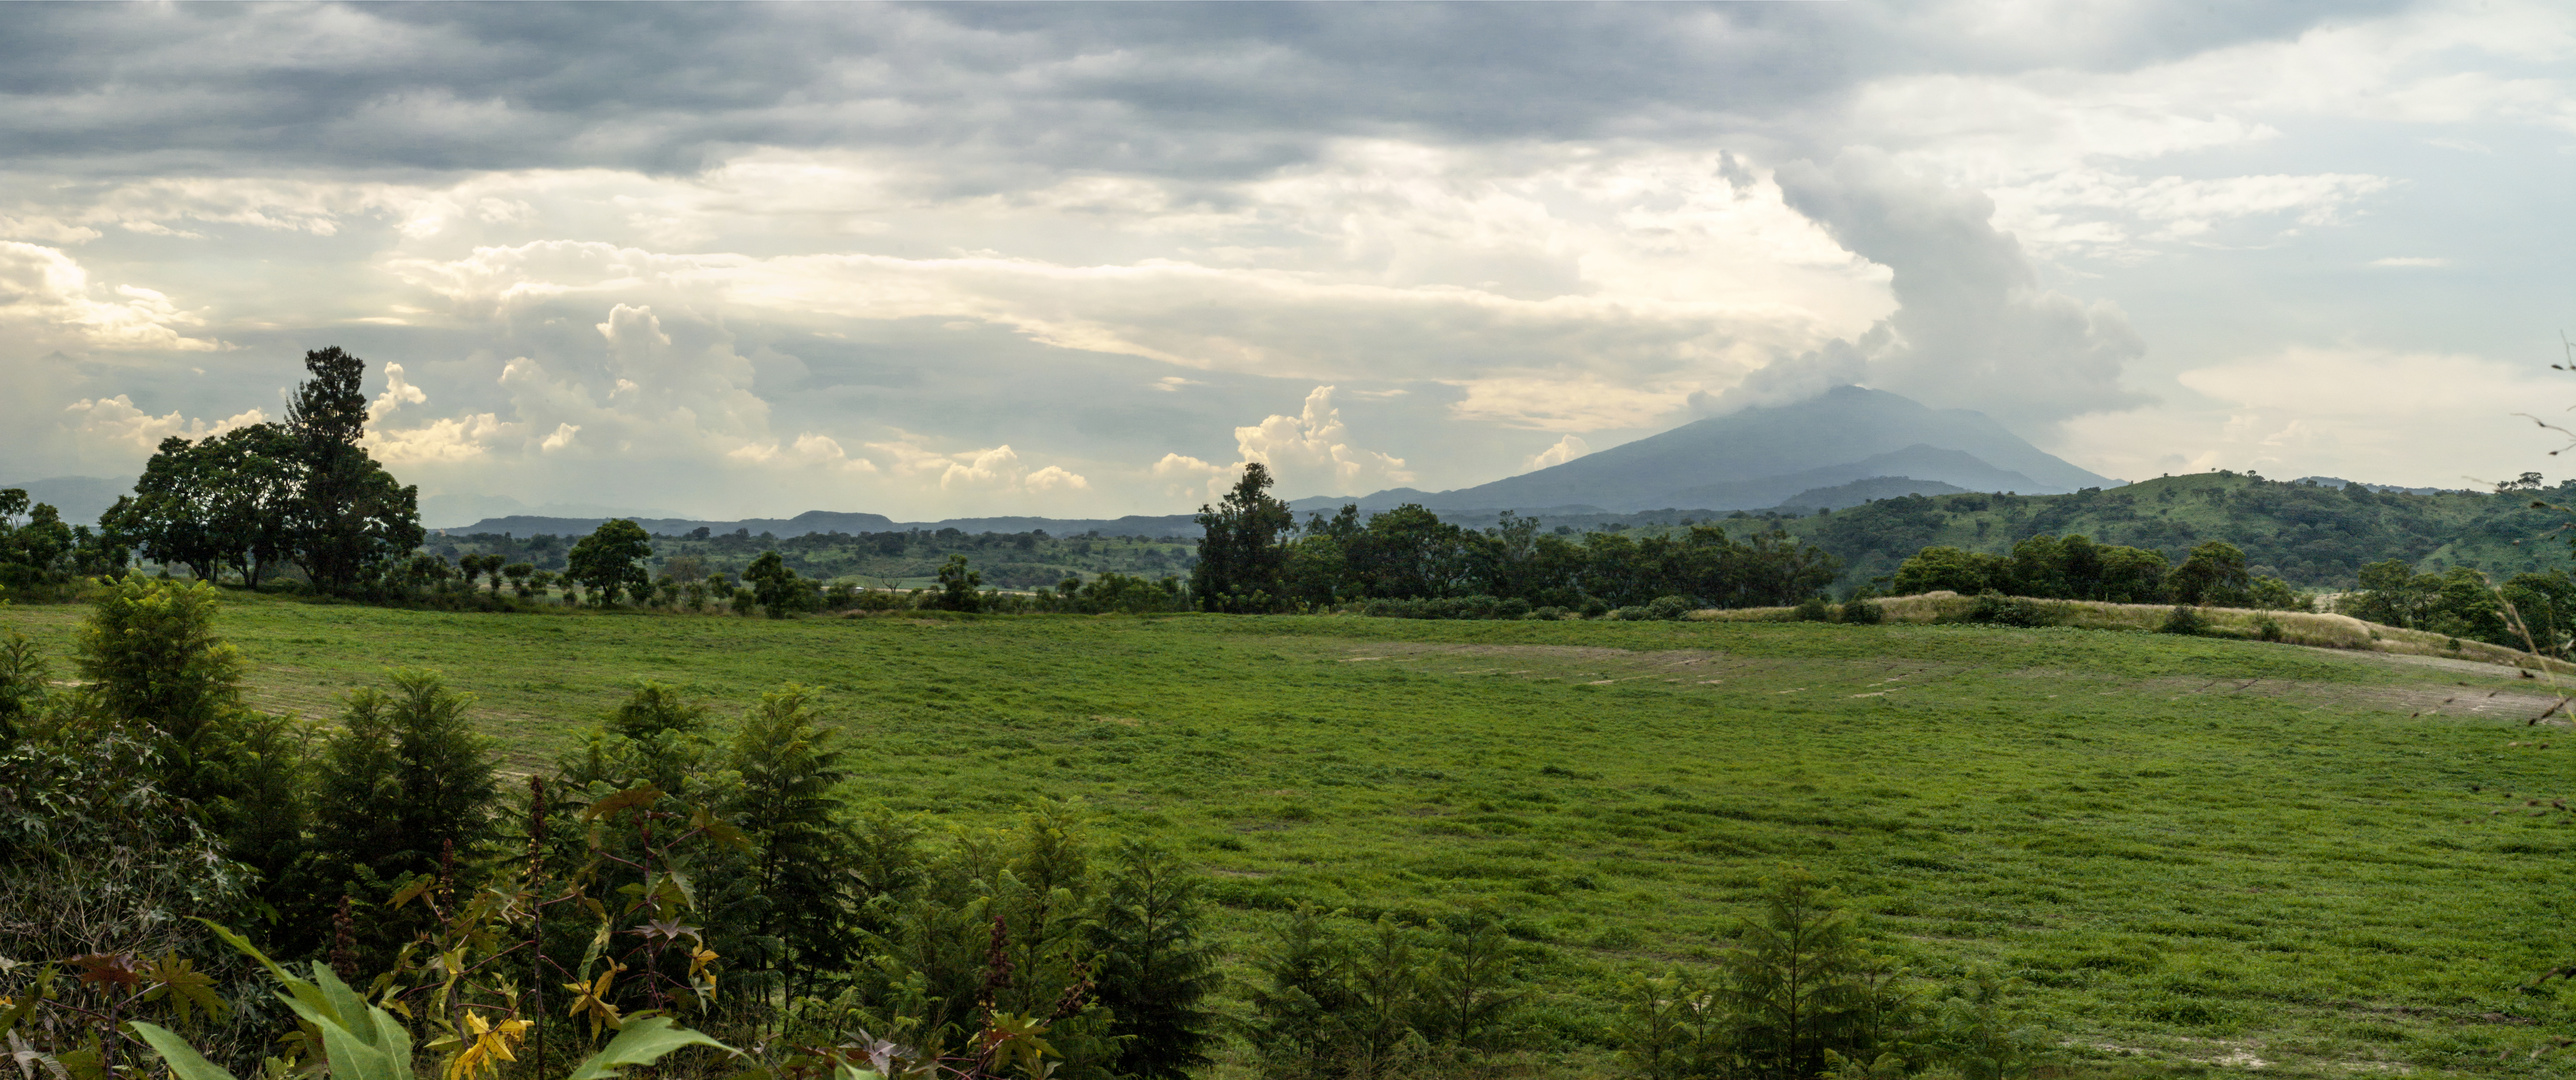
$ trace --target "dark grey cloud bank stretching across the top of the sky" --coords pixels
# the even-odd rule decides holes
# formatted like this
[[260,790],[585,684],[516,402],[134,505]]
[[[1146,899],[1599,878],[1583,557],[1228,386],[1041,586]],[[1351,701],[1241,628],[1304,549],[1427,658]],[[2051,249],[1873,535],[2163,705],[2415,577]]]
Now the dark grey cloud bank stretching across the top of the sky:
[[1978,8],[1873,5],[10,5],[0,152],[685,173],[889,144],[1213,178],[1342,134],[1762,129],[1878,75],[2117,70],[2352,15],[2239,8],[1986,34],[1960,26]]

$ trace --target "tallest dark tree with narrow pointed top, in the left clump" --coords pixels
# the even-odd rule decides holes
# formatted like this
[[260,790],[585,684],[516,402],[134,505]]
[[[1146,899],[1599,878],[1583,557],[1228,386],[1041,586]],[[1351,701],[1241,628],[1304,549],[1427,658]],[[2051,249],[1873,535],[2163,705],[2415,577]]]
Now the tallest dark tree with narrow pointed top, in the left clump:
[[332,348],[304,353],[312,379],[286,405],[301,490],[289,516],[294,557],[327,593],[348,593],[420,546],[420,490],[394,482],[366,446],[366,361]]

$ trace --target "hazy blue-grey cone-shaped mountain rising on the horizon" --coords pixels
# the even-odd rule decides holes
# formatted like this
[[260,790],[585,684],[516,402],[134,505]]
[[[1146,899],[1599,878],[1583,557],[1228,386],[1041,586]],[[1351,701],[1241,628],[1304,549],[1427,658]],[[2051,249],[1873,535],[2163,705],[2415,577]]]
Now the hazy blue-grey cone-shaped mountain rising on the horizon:
[[1520,477],[1448,492],[1388,490],[1355,500],[1381,510],[1422,503],[1432,510],[1759,510],[1814,487],[1870,477],[1937,479],[1960,490],[2058,495],[2115,487],[2117,479],[2079,469],[1989,420],[1984,412],[1932,410],[1862,387],[1837,387],[1795,405],[1757,407],[1692,420]]

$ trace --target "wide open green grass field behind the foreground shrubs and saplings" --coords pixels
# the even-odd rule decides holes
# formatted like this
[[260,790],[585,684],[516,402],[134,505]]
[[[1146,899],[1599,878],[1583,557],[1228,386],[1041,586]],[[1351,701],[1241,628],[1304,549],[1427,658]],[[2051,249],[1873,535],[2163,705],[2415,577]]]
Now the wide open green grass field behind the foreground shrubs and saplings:
[[[82,608],[0,608],[67,650]],[[425,613],[234,598],[255,701],[394,665],[541,768],[639,678],[827,691],[855,794],[961,825],[1082,796],[1218,882],[1499,912],[1535,1016],[1607,1023],[1765,874],[1839,884],[1927,977],[2020,974],[2110,1072],[2555,1075],[2576,1021],[2566,727],[2506,668],[2087,629],[1394,619]],[[2537,735],[2535,735],[2537,732]],[[2519,745],[2517,745],[2519,742]],[[2555,742],[2543,747],[2540,742]],[[2473,791],[2476,786],[2476,791]],[[2530,807],[2540,799],[2540,807]],[[1558,1072],[1600,1072],[1574,1052]]]

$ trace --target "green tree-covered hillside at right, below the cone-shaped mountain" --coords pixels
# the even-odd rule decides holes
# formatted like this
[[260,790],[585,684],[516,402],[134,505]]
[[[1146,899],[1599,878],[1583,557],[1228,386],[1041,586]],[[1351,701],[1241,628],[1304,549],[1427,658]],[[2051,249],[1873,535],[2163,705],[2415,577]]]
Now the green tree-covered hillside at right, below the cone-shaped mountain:
[[2084,534],[2174,562],[2200,541],[2228,541],[2246,552],[2254,575],[2352,588],[2365,564],[2383,559],[2494,577],[2566,567],[2568,549],[2555,534],[2566,516],[2532,510],[2537,497],[2566,503],[2576,490],[2403,495],[2213,472],[2074,495],[1906,495],[1780,526],[1842,557],[1844,583],[1893,575],[1932,544],[2004,554],[2027,536]]

